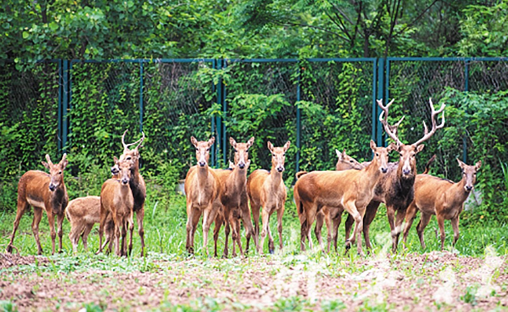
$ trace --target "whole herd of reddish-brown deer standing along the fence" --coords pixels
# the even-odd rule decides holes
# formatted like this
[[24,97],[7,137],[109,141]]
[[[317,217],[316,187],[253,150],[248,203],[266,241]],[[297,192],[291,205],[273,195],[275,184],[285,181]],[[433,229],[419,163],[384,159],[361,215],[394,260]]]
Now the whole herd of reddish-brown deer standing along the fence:
[[[454,231],[453,244],[459,237],[459,215],[463,203],[471,192],[476,181],[476,173],[481,166],[477,162],[468,166],[457,159],[462,169],[462,179],[454,183],[447,179],[427,174],[430,163],[422,174],[416,172],[416,154],[437,129],[444,126],[444,104],[438,110],[434,109],[429,99],[431,109],[432,128],[429,131],[424,122],[424,136],[412,144],[404,144],[397,136],[397,127],[402,119],[395,125],[389,125],[388,110],[392,100],[386,106],[382,101],[377,104],[383,110],[379,121],[383,124],[386,133],[395,142],[388,147],[376,146],[370,141],[373,152],[371,162],[359,163],[343,152],[337,152],[338,161],[335,171],[300,171],[296,174],[297,182],[294,186],[294,201],[301,225],[300,246],[305,250],[305,239],[308,239],[309,248],[312,248],[311,226],[316,221],[314,229],[317,241],[321,248],[323,241],[321,230],[324,223],[328,228],[328,247],[333,241],[337,251],[337,229],[341,222],[341,215],[345,210],[348,213],[345,222],[346,250],[351,244],[357,243],[359,254],[363,254],[361,232],[369,249],[369,226],[377,212],[380,203],[387,208],[388,222],[391,228],[392,252],[397,251],[397,244],[402,232],[402,222],[405,219],[403,240],[406,241],[409,228],[417,211],[422,216],[417,225],[417,232],[422,248],[425,248],[423,230],[430,217],[436,215],[440,230],[441,249],[444,246],[444,220],[451,220]],[[437,125],[436,116],[442,112],[441,123]],[[99,252],[109,242],[111,251],[115,244],[118,255],[127,255],[132,251],[132,232],[134,228],[133,214],[136,212],[139,235],[141,238],[141,254],[144,253],[144,202],[146,187],[143,177],[139,173],[138,147],[143,137],[130,144],[125,144],[122,135],[123,153],[120,158],[114,158],[115,165],[111,168],[112,178],[102,185],[101,196],[88,196],[77,198],[69,202],[67,190],[63,183],[63,170],[67,166],[66,154],[63,154],[58,164],[53,164],[46,155],[43,165],[49,169],[47,174],[42,171],[30,170],[23,174],[18,184],[18,206],[14,229],[7,252],[12,252],[14,235],[23,213],[31,205],[34,207],[34,221],[32,230],[38,246],[38,253],[42,253],[39,242],[39,222],[42,209],[46,210],[51,229],[52,252],[55,251],[54,216],[57,217],[59,249],[62,248],[62,221],[64,215],[71,223],[69,238],[76,252],[79,237],[82,238],[84,248],[87,248],[87,236],[94,223],[99,223],[100,246]],[[277,212],[277,230],[279,234],[279,248],[282,249],[282,215],[287,198],[287,190],[282,179],[284,171],[285,152],[290,147],[290,141],[282,147],[274,147],[268,141],[268,149],[272,154],[272,167],[270,171],[257,169],[247,178],[250,165],[248,150],[254,142],[251,137],[246,143],[237,143],[230,138],[234,151],[234,162],[230,162],[228,169],[214,169],[208,166],[210,148],[215,142],[212,137],[208,141],[198,141],[191,137],[191,143],[196,147],[197,165],[191,167],[185,177],[186,194],[186,250],[194,253],[194,236],[201,215],[203,215],[203,250],[208,255],[208,231],[213,222],[214,255],[217,256],[217,240],[221,226],[225,226],[224,256],[228,256],[228,238],[231,232],[233,241],[232,255],[236,256],[236,246],[241,255],[244,254],[240,239],[240,220],[246,230],[246,248],[248,252],[250,239],[253,238],[258,253],[263,253],[263,245],[268,235],[268,249],[274,252],[274,241],[270,232],[269,218]],[[129,146],[138,144],[134,149]],[[400,154],[398,162],[389,162],[391,151]],[[250,208],[249,204],[250,203]],[[67,207],[67,209],[66,209]],[[263,209],[261,210],[261,207]],[[261,236],[259,219],[261,212]],[[254,218],[252,223],[251,213]],[[355,227],[351,234],[353,224]],[[130,243],[127,247],[126,231],[130,230]],[[103,245],[104,231],[106,240]],[[121,246],[119,238],[121,236]]]

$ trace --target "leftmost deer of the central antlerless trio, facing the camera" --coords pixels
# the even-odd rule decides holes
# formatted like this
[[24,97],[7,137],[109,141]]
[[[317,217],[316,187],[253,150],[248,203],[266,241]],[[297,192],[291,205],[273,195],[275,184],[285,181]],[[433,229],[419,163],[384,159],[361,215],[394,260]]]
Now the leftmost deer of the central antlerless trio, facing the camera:
[[208,255],[208,231],[215,220],[217,205],[213,202],[217,199],[220,182],[215,173],[208,167],[210,147],[215,142],[215,137],[208,141],[198,141],[190,137],[190,142],[196,147],[197,166],[190,167],[185,177],[185,196],[187,198],[187,252],[194,253],[194,233],[199,219],[203,215],[203,250]]

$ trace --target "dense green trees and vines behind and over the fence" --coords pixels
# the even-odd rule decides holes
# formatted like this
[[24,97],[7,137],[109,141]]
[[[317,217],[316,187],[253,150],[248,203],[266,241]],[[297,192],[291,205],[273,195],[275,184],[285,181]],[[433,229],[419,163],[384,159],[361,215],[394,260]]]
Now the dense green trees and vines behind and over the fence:
[[[320,83],[323,79],[322,83],[326,84],[328,76],[315,69],[316,65],[305,63],[306,58],[503,57],[507,55],[508,48],[507,22],[508,0],[5,0],[0,8],[0,59],[12,62],[3,62],[0,71],[0,130],[4,144],[0,151],[0,207],[15,209],[17,179],[34,166],[43,169],[40,160],[44,158],[44,153],[59,157],[55,123],[51,122],[56,118],[58,71],[55,64],[35,66],[36,61],[296,58],[303,64],[301,70],[298,69],[298,76],[291,71],[293,69],[281,74],[287,76],[284,82],[293,83],[288,86],[292,88],[296,81],[304,85]],[[502,71],[506,70],[504,60],[496,64],[501,64],[501,73],[505,72]],[[70,137],[74,143],[68,146],[68,151],[70,172],[74,178],[66,181],[70,185],[71,198],[98,193],[102,181],[108,176],[104,168],[108,167],[112,154],[120,151],[119,135],[126,127],[136,125],[139,95],[135,92],[139,83],[133,79],[133,73],[137,75],[139,69],[130,66],[85,64],[73,69],[75,83],[69,114],[73,123]],[[166,103],[199,102],[203,106],[198,107],[203,116],[219,117],[220,107],[213,105],[214,86],[219,79],[224,79],[230,90],[235,90],[235,84],[269,85],[264,81],[265,74],[273,68],[259,64],[249,66],[257,66],[257,71],[249,76],[234,75],[233,69],[217,70],[203,64],[192,70],[187,68],[185,70],[189,73],[178,75],[180,92],[176,95],[173,92],[167,98],[163,95],[170,92],[166,91],[175,89],[171,89],[174,86],[165,77],[174,74],[176,67],[147,66],[144,96],[148,100],[144,122],[150,131],[147,131],[143,152],[143,170],[150,181],[160,186],[154,188],[155,196],[157,192],[160,195],[172,192],[175,182],[182,178],[182,172],[193,162],[188,129],[210,129],[208,119],[196,118],[192,111],[185,109],[179,113],[168,112]],[[312,66],[314,72],[303,73],[305,68]],[[498,65],[492,65],[495,66]],[[489,69],[485,67],[483,71]],[[420,70],[425,72],[428,69],[422,67]],[[358,156],[362,151],[358,143],[360,138],[350,134],[360,133],[369,127],[368,122],[365,126],[358,121],[364,112],[355,106],[361,101],[358,94],[366,92],[357,86],[369,87],[365,78],[368,74],[365,68],[345,64],[334,75],[340,81],[355,81],[356,85],[337,83],[334,87],[338,90],[337,94],[331,97],[334,102],[328,106],[320,100],[320,95],[312,93],[314,91],[304,93],[303,97],[307,100],[298,103],[302,118],[308,122],[308,132],[304,134],[307,159],[303,159],[303,169],[333,167],[335,151],[328,145],[320,146],[323,139],[332,141],[329,146],[346,142],[343,146],[348,152],[366,158],[364,154]],[[19,87],[16,92],[29,93],[36,99],[33,107],[28,108],[23,103],[17,106],[18,110],[13,110],[13,98],[16,97],[12,95],[14,88],[11,82],[14,76],[30,81],[26,86],[16,86]],[[118,83],[119,79],[123,81]],[[267,81],[270,80],[274,81],[273,77],[268,77]],[[397,83],[397,80],[394,81]],[[398,100],[403,100],[404,96],[406,100],[410,99],[411,93],[418,92],[410,90],[411,83],[398,83]],[[505,172],[508,162],[508,99],[506,81],[497,83],[494,80],[485,83],[487,87],[481,92],[464,93],[464,90],[449,88],[441,92],[435,101],[436,106],[437,101],[449,104],[446,130],[432,143],[439,145],[441,164],[437,166],[437,174],[460,179],[455,158],[462,156],[463,140],[468,146],[471,163],[477,160],[484,163],[478,188],[485,200],[469,217],[475,222],[496,220],[504,223],[508,216],[508,176]],[[102,84],[115,87],[106,90]],[[203,87],[205,85],[207,87]],[[238,93],[228,95],[233,110],[225,123],[232,133],[248,135],[254,126],[258,127],[257,130],[266,130],[273,126],[274,120],[280,120],[278,114],[293,114],[292,107],[296,105],[293,99],[276,92],[250,92],[247,87],[242,88],[238,87]],[[30,92],[26,91],[28,89]],[[118,103],[123,108],[118,108]],[[129,105],[134,108],[125,108]],[[411,112],[410,108],[406,107],[406,110]],[[369,112],[366,116],[371,118]],[[168,119],[177,120],[179,126],[168,129],[160,126]],[[271,120],[269,126],[268,119]],[[279,138],[277,143],[286,139],[295,143],[293,121],[287,119],[278,125],[287,137]],[[418,125],[421,127],[420,120]],[[408,131],[404,129],[402,134]],[[160,140],[168,132],[176,143],[169,139]],[[198,134],[203,139],[211,135],[209,131]],[[276,136],[274,133],[271,135]],[[369,136],[370,133],[366,133],[365,139]],[[266,158],[267,152],[263,150],[266,138],[257,137],[257,140],[258,148],[253,150],[252,156],[255,159]],[[156,144],[164,146],[150,148]],[[38,146],[42,153],[30,152],[34,146]],[[426,148],[419,158],[419,165],[423,165],[434,152]],[[294,159],[295,153],[293,144],[288,159]],[[184,161],[180,159],[182,154],[188,154]],[[324,154],[326,158],[323,158]],[[251,169],[257,167],[262,165],[254,163]],[[293,176],[293,172],[288,173],[289,184],[293,182]]]

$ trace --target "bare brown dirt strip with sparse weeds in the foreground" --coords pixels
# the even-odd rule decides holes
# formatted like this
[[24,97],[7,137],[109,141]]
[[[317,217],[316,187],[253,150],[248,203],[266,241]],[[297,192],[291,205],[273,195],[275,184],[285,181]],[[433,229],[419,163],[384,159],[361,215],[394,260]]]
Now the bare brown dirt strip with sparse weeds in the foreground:
[[174,310],[175,306],[187,307],[184,310],[508,310],[504,256],[430,252],[352,259],[305,254],[155,259],[148,271],[122,272],[114,267],[62,269],[44,257],[2,254],[0,301],[10,301],[20,311],[77,311],[86,304],[99,310]]

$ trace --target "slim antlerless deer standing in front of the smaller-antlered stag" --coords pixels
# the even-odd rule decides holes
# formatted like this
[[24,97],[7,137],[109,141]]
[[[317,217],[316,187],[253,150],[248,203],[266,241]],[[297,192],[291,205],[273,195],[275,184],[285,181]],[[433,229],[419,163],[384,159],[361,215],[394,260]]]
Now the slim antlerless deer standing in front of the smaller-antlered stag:
[[[133,224],[134,196],[130,187],[132,161],[119,161],[113,158],[119,172],[118,178],[106,180],[101,187],[101,207],[99,225],[99,252],[102,252],[102,238],[104,226],[111,214],[114,224],[113,240],[115,253],[119,256],[126,256],[126,233],[127,228]],[[137,160],[134,160],[137,161]],[[119,246],[120,235],[122,238],[121,248]]]

